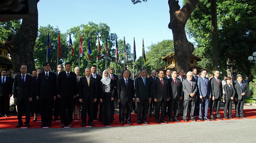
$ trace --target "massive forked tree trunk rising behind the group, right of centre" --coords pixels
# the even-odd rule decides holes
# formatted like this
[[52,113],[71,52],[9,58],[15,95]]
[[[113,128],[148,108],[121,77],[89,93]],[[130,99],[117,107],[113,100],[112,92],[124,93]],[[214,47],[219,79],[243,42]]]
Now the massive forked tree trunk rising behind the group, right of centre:
[[185,25],[197,2],[198,0],[187,0],[186,4],[181,8],[179,1],[168,0],[170,8],[170,23],[168,27],[172,29],[176,70],[182,68],[185,72],[190,71],[190,59],[194,46],[187,40]]

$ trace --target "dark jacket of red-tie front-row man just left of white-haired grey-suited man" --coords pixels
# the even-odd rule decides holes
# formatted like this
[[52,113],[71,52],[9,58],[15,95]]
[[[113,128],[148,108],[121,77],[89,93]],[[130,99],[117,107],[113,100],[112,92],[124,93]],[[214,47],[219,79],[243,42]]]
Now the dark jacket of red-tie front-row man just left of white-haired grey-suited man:
[[169,93],[170,93],[171,100],[174,100],[182,96],[181,80],[176,78],[177,86],[174,80],[172,79],[172,77],[168,79],[168,82],[169,82],[169,90],[170,90]]

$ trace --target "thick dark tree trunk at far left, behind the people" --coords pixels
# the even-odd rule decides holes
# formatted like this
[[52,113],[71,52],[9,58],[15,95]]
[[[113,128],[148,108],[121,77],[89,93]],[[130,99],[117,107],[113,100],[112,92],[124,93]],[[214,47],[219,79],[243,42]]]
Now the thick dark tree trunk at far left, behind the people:
[[[36,0],[38,2],[38,0]],[[30,18],[23,18],[17,34],[9,36],[5,47],[7,47],[12,58],[13,72],[19,72],[21,64],[27,65],[27,73],[35,70],[35,59],[33,49],[38,31],[37,2],[35,14]]]

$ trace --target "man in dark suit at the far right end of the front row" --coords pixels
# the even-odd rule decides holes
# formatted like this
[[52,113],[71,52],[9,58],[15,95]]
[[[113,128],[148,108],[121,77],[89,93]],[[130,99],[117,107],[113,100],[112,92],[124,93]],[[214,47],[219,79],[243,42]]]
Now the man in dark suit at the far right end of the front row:
[[237,118],[245,118],[244,117],[244,96],[246,96],[245,85],[242,83],[243,78],[241,75],[236,76],[236,81],[234,81],[234,89],[236,91],[235,94],[235,109],[236,109],[236,117]]

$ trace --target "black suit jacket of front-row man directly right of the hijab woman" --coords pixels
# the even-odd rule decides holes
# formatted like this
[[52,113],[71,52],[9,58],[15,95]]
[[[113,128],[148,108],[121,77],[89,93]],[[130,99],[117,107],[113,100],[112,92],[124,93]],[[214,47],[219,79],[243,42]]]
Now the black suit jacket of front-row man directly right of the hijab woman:
[[128,78],[128,88],[126,89],[124,78],[120,78],[117,81],[117,93],[117,99],[120,99],[120,101],[132,102],[133,98],[135,98],[133,80]]

